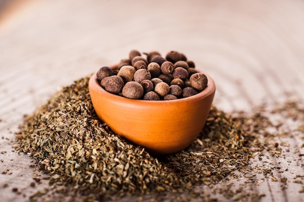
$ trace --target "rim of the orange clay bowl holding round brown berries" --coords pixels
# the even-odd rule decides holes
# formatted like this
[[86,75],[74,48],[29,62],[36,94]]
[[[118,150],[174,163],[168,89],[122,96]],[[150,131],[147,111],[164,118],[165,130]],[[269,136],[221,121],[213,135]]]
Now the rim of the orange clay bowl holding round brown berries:
[[[112,70],[115,70],[115,69],[118,68],[118,64],[110,65],[109,67]],[[200,93],[197,93],[197,94],[189,96],[189,97],[178,98],[178,99],[175,99],[175,100],[142,100],[142,99],[131,99],[131,98],[119,96],[118,94],[107,92],[99,84],[99,82],[97,80],[96,73],[97,73],[97,71],[94,72],[93,75],[90,78],[90,79],[93,79],[93,83],[94,83],[94,85],[89,85],[90,88],[94,88],[99,93],[104,94],[105,96],[107,96],[111,100],[116,100],[117,102],[124,102],[126,104],[132,104],[132,105],[134,105],[134,104],[138,104],[138,105],[143,105],[143,104],[148,105],[148,104],[150,104],[150,105],[154,106],[154,105],[169,104],[169,103],[191,102],[191,101],[196,101],[196,100],[203,99],[203,98],[209,96],[210,94],[212,94],[212,93],[214,93],[216,91],[216,86],[215,86],[213,78],[211,78],[210,75],[207,74],[207,73],[205,73],[204,71],[200,71],[199,70],[198,73],[203,73],[208,78],[207,87],[202,92],[200,92]],[[89,83],[91,83],[91,82],[89,82]]]

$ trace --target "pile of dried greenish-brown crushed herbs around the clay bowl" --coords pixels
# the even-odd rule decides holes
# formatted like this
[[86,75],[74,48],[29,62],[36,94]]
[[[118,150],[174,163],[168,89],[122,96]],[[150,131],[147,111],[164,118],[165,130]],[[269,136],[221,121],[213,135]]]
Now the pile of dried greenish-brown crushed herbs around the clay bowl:
[[55,93],[25,118],[17,134],[17,149],[35,158],[50,183],[63,185],[67,194],[99,201],[155,192],[199,195],[196,186],[216,184],[246,169],[253,154],[265,148],[258,134],[273,126],[261,113],[246,118],[212,107],[202,133],[186,150],[154,157],[98,120],[88,80]]

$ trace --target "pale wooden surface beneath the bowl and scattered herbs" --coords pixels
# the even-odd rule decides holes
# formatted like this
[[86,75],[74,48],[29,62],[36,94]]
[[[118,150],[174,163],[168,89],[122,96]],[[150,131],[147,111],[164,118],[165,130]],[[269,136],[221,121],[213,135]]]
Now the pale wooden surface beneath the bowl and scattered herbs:
[[[1,201],[25,202],[48,186],[47,180],[29,186],[34,163],[11,147],[23,115],[131,49],[185,53],[214,78],[214,105],[226,112],[303,100],[303,11],[303,0],[27,0],[13,6],[0,17],[0,171],[9,169],[0,176]],[[292,183],[296,174],[304,175],[303,135],[284,139],[290,150],[284,157],[253,159],[253,166],[279,162],[289,171],[274,173],[279,182],[287,178],[284,190],[257,173],[252,186],[263,195],[259,201],[304,201],[303,185]],[[246,179],[232,182],[244,186]]]

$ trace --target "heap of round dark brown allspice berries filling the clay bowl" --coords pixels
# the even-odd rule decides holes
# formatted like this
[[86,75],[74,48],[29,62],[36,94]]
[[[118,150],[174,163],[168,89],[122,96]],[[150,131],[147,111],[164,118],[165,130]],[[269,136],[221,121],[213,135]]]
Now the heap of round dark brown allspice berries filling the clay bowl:
[[[146,57],[143,57],[145,55]],[[177,51],[163,58],[157,51],[131,50],[118,69],[103,66],[97,80],[107,92],[131,99],[174,100],[202,92],[208,78],[195,69],[193,61]]]

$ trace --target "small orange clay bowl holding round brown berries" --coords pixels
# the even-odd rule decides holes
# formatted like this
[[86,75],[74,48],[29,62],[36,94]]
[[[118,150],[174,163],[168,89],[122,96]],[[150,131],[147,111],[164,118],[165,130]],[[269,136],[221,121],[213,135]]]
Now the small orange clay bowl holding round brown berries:
[[152,155],[169,155],[188,147],[203,129],[216,90],[213,79],[204,74],[208,84],[201,93],[177,100],[121,97],[105,91],[96,73],[88,87],[97,116],[115,134],[144,147]]

